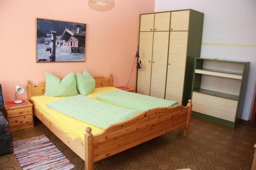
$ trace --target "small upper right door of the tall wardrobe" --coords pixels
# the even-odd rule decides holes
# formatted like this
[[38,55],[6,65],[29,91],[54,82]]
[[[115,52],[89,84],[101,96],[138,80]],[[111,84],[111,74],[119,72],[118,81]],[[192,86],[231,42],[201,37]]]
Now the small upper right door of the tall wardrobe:
[[188,31],[189,10],[172,12],[170,31]]

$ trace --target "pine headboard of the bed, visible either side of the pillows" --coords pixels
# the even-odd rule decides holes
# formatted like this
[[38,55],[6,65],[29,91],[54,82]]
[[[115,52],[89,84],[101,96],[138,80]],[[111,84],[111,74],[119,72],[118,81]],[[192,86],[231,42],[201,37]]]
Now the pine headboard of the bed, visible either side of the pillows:
[[[110,74],[110,78],[95,77],[95,87],[112,87],[113,86],[113,75]],[[27,81],[27,93],[28,100],[31,101],[32,96],[44,95],[46,89],[46,82],[41,82],[36,85],[32,85],[31,81]]]

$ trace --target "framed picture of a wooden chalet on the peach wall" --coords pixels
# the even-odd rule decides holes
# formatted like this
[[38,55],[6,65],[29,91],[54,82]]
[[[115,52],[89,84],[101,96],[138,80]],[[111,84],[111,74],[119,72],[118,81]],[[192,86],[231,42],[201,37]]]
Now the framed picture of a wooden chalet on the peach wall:
[[36,18],[36,62],[86,61],[86,24]]

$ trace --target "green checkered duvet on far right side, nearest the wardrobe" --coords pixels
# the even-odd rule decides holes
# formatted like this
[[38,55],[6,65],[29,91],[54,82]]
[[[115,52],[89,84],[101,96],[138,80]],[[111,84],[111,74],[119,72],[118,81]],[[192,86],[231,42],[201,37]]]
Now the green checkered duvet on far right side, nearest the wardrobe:
[[139,93],[115,90],[98,94],[97,98],[103,102],[122,106],[138,111],[145,111],[157,107],[170,107],[178,105],[178,102],[155,98]]

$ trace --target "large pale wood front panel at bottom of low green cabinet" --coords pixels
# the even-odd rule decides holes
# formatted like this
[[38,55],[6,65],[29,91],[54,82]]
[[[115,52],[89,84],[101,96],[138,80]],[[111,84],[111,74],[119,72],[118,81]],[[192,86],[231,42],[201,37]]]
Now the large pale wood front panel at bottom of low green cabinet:
[[193,92],[192,110],[230,122],[236,119],[238,101]]

